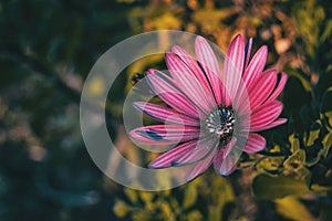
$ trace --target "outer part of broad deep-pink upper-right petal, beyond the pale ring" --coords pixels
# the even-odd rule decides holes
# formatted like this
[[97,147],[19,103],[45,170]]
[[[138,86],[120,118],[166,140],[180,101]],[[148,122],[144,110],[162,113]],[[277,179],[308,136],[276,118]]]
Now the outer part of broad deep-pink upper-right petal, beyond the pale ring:
[[266,71],[259,80],[248,90],[251,112],[267,101],[274,90],[277,83],[277,72],[274,70]]

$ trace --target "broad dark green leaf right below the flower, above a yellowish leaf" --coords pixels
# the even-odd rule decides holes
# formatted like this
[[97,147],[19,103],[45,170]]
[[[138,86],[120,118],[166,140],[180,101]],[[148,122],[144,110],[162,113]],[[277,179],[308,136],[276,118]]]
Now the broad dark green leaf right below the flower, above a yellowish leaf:
[[252,190],[256,197],[270,200],[289,194],[303,196],[313,193],[303,180],[297,180],[287,176],[271,177],[264,173],[255,177]]

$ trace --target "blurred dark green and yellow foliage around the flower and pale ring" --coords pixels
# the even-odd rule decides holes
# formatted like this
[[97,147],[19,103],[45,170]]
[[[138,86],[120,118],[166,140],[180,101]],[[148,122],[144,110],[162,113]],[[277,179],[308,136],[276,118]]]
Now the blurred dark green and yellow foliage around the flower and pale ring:
[[[332,3],[323,0],[1,0],[0,220],[332,220]],[[267,149],[239,170],[212,170],[160,192],[114,183],[92,162],[79,123],[80,94],[96,60],[137,33],[200,34],[226,51],[232,36],[267,44],[267,67],[289,74],[287,125],[262,133]],[[128,159],[124,71],[107,102],[110,134]],[[96,82],[91,93],[103,84]],[[124,90],[125,88],[125,90]]]

